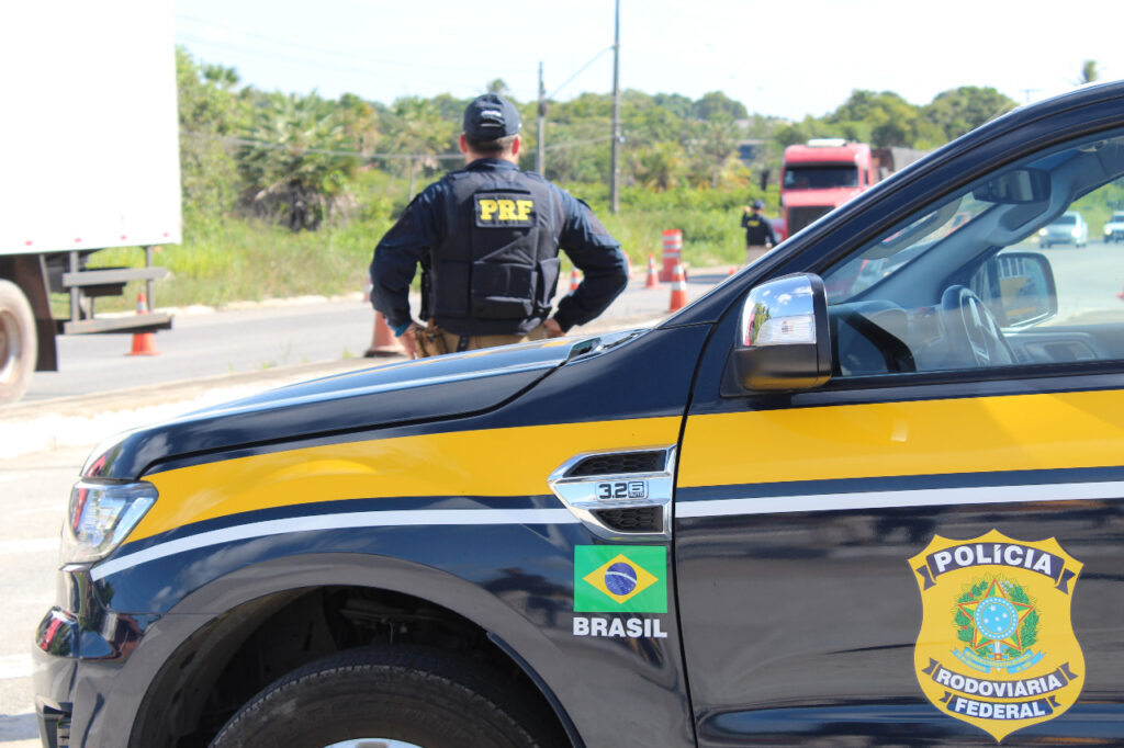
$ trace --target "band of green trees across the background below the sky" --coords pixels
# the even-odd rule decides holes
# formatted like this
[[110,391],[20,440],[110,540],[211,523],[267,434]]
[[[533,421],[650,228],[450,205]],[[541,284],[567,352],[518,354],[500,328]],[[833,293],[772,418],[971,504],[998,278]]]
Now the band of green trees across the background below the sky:
[[[242,85],[236,71],[176,51],[184,216],[255,216],[292,230],[346,220],[355,185],[372,170],[409,184],[406,198],[461,163],[456,148],[469,99],[402,97],[389,104],[354,94],[326,99]],[[501,80],[487,90],[508,94]],[[515,101],[524,121],[525,168],[537,168],[537,101]],[[761,103],[762,107],[767,104]],[[1015,102],[990,88],[961,86],[925,106],[855,90],[835,111],[788,121],[750,113],[722,92],[622,94],[622,183],[628,194],[682,190],[760,192],[788,145],[844,137],[873,146],[935,148]],[[563,184],[604,184],[609,174],[613,98],[549,101],[544,164]],[[729,195],[726,195],[727,198]]]

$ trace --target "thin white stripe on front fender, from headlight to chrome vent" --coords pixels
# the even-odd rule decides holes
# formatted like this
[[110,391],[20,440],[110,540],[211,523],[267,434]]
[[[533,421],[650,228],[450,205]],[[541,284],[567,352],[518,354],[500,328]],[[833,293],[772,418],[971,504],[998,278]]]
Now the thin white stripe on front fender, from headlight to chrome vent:
[[179,540],[170,540],[99,564],[90,569],[94,580],[124,572],[139,564],[175,554],[197,550],[208,546],[238,542],[289,532],[316,532],[320,530],[354,530],[369,527],[406,527],[411,524],[577,524],[578,518],[565,509],[435,509],[401,510],[384,512],[348,512],[345,514],[312,514],[290,519],[268,520],[250,524],[236,524],[200,532]]

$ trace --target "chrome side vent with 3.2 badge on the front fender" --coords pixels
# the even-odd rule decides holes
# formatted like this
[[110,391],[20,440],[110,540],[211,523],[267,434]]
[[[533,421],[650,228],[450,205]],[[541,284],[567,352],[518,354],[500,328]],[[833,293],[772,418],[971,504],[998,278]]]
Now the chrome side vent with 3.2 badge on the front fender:
[[551,473],[551,491],[608,540],[671,533],[674,447],[577,455]]

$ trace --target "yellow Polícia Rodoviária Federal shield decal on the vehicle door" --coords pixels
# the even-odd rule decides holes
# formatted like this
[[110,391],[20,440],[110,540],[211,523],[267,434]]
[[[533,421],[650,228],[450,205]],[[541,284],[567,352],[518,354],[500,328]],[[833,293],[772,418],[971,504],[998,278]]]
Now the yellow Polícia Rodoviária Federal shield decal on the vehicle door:
[[917,681],[933,705],[996,742],[1073,705],[1085,656],[1070,608],[1082,564],[1054,538],[936,536],[909,559],[921,587]]

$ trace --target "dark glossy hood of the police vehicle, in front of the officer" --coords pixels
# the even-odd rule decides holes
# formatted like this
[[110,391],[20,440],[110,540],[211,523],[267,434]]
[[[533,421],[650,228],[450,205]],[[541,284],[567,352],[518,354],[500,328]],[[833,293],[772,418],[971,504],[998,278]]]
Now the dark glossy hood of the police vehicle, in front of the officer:
[[184,455],[479,413],[534,385],[596,338],[560,338],[378,366],[280,387],[127,431],[87,477],[135,480]]

